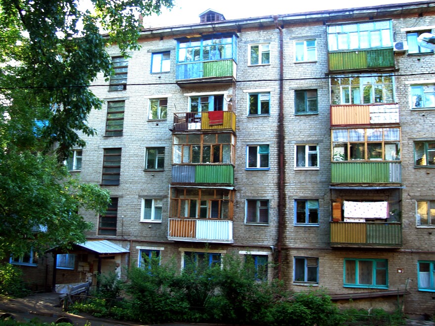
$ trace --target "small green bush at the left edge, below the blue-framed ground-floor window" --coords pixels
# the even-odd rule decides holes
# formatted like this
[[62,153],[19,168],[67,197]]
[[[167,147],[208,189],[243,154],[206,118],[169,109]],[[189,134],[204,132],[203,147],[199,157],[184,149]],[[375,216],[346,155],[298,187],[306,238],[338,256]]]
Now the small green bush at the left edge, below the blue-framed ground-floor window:
[[22,279],[22,271],[15,266],[0,264],[0,296],[23,297],[30,293]]

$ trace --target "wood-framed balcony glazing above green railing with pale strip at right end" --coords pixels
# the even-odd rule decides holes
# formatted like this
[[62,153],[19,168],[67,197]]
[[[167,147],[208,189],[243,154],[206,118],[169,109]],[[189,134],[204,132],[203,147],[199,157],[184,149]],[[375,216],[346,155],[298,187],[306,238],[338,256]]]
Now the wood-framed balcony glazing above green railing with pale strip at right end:
[[332,146],[333,161],[398,161],[400,129],[334,129]]

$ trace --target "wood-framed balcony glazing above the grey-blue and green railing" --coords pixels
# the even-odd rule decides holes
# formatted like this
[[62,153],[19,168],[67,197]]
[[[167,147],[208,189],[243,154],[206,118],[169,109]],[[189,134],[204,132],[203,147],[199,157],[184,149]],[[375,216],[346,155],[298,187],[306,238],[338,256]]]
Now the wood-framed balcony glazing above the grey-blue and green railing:
[[175,135],[174,164],[233,164],[235,139],[232,134]]

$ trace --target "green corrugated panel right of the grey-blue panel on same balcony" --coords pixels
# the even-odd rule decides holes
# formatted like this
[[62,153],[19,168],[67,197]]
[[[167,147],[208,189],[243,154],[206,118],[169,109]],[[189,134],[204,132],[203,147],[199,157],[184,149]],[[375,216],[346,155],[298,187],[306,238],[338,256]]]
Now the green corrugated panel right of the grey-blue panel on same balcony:
[[195,183],[234,185],[234,166],[227,165],[196,165]]

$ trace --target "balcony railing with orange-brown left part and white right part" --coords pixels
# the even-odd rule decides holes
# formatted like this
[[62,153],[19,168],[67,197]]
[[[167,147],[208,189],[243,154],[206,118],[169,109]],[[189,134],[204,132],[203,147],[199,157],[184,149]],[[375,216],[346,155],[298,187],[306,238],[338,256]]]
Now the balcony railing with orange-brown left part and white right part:
[[168,239],[193,242],[233,242],[233,222],[229,220],[169,219]]

